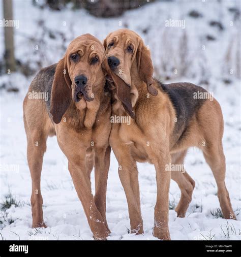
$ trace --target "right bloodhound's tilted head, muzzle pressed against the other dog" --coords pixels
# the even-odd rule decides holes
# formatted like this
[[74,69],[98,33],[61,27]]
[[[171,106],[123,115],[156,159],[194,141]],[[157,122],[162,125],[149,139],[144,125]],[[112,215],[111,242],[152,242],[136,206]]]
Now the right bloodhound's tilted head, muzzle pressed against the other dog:
[[111,70],[128,86],[132,79],[146,83],[147,90],[157,95],[153,84],[153,63],[150,50],[138,34],[130,29],[119,29],[104,40],[104,47]]

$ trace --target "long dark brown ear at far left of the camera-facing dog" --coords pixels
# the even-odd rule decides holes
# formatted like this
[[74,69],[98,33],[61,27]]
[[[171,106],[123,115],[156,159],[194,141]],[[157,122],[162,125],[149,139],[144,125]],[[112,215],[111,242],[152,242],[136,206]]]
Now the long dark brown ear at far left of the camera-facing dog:
[[63,115],[71,103],[71,84],[66,58],[64,57],[57,64],[51,91],[50,113],[56,124],[61,122]]

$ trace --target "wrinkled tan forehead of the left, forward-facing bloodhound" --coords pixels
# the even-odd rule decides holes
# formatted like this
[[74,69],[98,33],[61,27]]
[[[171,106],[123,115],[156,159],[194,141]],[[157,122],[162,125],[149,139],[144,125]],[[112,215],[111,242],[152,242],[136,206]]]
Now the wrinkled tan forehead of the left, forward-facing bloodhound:
[[73,40],[68,49],[67,53],[78,53],[80,56],[84,55],[98,55],[99,57],[104,56],[104,47],[101,44],[101,42],[96,42],[93,40],[81,40],[81,39],[75,39]]

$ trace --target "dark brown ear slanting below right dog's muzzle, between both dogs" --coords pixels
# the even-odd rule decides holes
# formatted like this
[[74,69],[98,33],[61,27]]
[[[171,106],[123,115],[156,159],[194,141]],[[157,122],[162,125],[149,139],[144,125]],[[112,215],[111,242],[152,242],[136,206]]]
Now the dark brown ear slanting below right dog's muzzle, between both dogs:
[[104,69],[108,76],[111,77],[113,83],[116,88],[116,94],[118,99],[122,102],[122,105],[126,112],[131,116],[131,118],[135,118],[134,111],[132,109],[131,104],[131,88],[128,86],[121,78],[119,78],[116,74],[114,74],[107,62],[107,58],[105,58],[104,62],[102,63],[102,69]]

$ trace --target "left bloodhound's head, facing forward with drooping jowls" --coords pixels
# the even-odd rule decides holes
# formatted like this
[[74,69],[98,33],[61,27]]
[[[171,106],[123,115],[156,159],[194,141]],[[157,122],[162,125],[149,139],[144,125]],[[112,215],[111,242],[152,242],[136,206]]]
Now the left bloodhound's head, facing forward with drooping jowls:
[[106,73],[111,76],[102,43],[90,34],[74,39],[54,74],[50,113],[59,123],[70,103],[78,109],[94,105],[104,90]]

